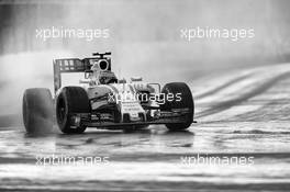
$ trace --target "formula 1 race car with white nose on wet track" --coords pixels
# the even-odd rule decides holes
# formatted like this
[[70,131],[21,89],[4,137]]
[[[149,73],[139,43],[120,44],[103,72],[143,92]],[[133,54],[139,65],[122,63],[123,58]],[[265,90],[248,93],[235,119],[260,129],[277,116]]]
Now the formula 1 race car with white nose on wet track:
[[[170,131],[182,131],[191,125],[194,103],[186,83],[171,82],[161,89],[159,83],[146,83],[142,78],[131,78],[130,82],[118,79],[111,71],[110,55],[55,59],[54,99],[45,88],[24,92],[26,132],[49,129],[55,118],[66,134],[80,134],[87,127],[135,129],[165,124]],[[82,72],[85,77],[78,86],[62,87],[65,72]]]

